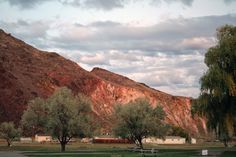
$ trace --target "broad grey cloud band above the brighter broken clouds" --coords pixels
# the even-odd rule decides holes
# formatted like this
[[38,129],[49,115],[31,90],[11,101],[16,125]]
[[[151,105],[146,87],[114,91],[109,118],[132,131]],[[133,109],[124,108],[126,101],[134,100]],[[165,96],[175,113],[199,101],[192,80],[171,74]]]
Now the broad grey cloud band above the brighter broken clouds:
[[236,24],[236,16],[179,18],[147,27],[133,27],[105,21],[82,27],[66,26],[66,29],[60,32],[60,36],[52,40],[54,46],[71,50],[115,49],[188,54],[193,50],[202,51],[212,46],[215,42],[216,28],[225,24]]

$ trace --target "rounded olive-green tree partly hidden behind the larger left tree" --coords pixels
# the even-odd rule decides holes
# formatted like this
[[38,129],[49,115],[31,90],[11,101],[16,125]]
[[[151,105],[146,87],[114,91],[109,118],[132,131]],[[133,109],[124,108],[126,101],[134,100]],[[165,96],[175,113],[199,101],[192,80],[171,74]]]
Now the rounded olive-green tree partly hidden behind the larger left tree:
[[49,106],[42,98],[35,98],[29,102],[28,108],[21,118],[21,127],[25,134],[46,133]]

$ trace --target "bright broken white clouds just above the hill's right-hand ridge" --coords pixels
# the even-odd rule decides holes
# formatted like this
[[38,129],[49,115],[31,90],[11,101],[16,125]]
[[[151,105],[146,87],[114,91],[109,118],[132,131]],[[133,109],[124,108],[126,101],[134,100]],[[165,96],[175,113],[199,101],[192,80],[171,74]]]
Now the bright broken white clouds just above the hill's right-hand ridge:
[[199,92],[198,80],[206,70],[203,60],[204,56],[199,54],[148,56],[145,52],[118,50],[82,54],[77,58],[87,70],[99,66],[158,90],[191,97],[197,97]]

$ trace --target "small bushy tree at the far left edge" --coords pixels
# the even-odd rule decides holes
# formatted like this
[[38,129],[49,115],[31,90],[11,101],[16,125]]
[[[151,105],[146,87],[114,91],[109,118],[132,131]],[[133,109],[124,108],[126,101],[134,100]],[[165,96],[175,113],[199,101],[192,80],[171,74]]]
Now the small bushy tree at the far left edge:
[[3,122],[0,125],[0,137],[7,141],[7,146],[10,147],[12,141],[19,137],[20,130],[15,128],[13,122]]

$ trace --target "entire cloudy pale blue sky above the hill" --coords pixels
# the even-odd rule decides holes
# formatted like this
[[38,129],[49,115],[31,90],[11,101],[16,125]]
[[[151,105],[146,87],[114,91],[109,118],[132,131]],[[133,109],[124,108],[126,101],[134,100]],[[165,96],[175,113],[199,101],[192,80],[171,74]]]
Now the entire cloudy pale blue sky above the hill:
[[226,24],[235,0],[0,0],[0,28],[28,44],[193,98]]

